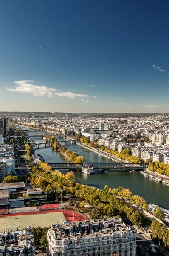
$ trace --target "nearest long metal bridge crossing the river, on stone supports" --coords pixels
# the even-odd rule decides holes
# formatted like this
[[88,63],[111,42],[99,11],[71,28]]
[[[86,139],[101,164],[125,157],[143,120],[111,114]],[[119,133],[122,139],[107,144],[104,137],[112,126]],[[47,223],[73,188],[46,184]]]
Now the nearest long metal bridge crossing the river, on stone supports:
[[82,169],[82,167],[93,167],[94,169],[110,170],[125,169],[139,170],[144,169],[144,163],[48,163],[52,169]]

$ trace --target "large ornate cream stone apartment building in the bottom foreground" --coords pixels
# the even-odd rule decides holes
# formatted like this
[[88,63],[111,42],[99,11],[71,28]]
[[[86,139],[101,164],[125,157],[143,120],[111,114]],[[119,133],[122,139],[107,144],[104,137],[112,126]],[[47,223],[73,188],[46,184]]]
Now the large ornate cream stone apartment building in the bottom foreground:
[[51,225],[47,242],[48,256],[136,255],[135,236],[118,218]]

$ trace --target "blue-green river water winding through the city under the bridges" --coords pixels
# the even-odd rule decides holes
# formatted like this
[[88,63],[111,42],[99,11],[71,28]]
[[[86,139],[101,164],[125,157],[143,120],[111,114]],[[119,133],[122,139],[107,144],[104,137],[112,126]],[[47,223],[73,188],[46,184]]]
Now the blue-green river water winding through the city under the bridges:
[[[26,130],[26,128],[24,128]],[[43,131],[29,131],[29,135],[39,135]],[[48,133],[48,135],[54,135]],[[32,137],[36,143],[42,143],[45,140],[41,137]],[[56,136],[57,140],[61,140],[62,137]],[[111,162],[110,159],[94,153],[80,145],[73,144],[71,142],[63,142],[70,151],[74,151],[79,155],[85,157],[86,162]],[[51,147],[44,147],[40,145],[39,149],[35,150],[36,154],[42,154],[47,163],[66,163],[67,159],[59,152],[53,151]],[[147,177],[144,177],[139,172],[121,172],[120,170],[113,170],[110,172],[103,172],[95,170],[95,174],[86,175],[82,172],[75,172],[77,182],[94,186],[98,189],[104,189],[107,184],[111,188],[124,186],[128,188],[133,195],[141,195],[146,199],[148,203],[157,204],[165,209],[169,209],[169,186],[162,183],[155,182]]]

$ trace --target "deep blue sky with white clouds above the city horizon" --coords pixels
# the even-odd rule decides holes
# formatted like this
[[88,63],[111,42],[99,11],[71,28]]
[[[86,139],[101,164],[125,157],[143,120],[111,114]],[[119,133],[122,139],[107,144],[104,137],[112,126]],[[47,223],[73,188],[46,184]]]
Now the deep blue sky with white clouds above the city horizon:
[[169,2],[2,0],[0,111],[169,113]]

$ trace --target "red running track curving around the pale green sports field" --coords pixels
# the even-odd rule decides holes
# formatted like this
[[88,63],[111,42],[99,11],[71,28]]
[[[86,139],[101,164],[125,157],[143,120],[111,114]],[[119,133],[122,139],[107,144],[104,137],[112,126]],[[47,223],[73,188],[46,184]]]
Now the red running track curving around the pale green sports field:
[[[50,213],[50,212],[63,212],[65,218],[68,222],[73,222],[73,212],[69,210],[46,210],[40,212],[21,212],[21,213],[12,213],[12,214],[5,214],[0,215],[0,218],[4,217],[12,217],[12,216],[20,216],[20,215],[31,215],[31,214],[43,214],[43,213]],[[74,221],[85,221],[87,218],[79,212],[74,212]]]

